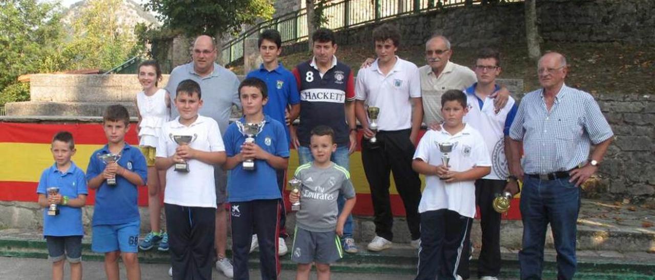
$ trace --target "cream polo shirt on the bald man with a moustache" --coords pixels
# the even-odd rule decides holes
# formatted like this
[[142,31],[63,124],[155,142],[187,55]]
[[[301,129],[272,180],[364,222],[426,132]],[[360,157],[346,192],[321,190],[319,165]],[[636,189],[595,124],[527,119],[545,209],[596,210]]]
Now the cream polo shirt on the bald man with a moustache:
[[466,66],[446,63],[439,77],[434,75],[430,65],[419,68],[421,94],[423,96],[423,122],[427,125],[441,122],[441,95],[447,90],[462,90],[477,82],[476,73]]

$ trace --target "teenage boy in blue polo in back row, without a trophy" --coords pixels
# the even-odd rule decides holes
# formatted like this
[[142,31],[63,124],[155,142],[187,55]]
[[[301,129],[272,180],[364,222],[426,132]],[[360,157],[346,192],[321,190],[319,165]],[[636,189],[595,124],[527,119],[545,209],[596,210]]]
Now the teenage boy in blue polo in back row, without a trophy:
[[[288,120],[297,118],[300,113],[300,95],[298,94],[298,86],[295,82],[295,77],[291,71],[282,66],[278,61],[278,56],[282,52],[282,37],[280,32],[275,29],[265,30],[259,35],[259,54],[263,63],[259,69],[255,69],[248,73],[246,78],[258,78],[266,83],[269,92],[269,101],[264,105],[264,114],[271,116],[272,119],[285,124],[284,131],[286,132],[287,139],[290,139]],[[289,109],[289,118],[285,118],[285,111]],[[286,186],[286,169],[277,171],[278,187],[280,192],[284,194],[284,186]],[[284,197],[284,196],[283,196]],[[284,243],[284,238],[288,237],[286,233],[286,207],[284,200],[280,203],[280,237],[278,240],[279,248],[278,254],[280,256],[287,253],[287,247]],[[253,236],[251,251],[257,247],[257,236]]]

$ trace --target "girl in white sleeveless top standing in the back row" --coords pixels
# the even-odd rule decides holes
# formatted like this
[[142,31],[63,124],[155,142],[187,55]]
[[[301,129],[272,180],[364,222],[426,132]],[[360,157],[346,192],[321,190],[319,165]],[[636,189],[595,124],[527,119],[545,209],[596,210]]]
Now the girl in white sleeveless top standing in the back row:
[[168,251],[168,235],[162,230],[160,222],[160,203],[164,197],[166,171],[155,169],[155,147],[162,125],[170,118],[170,97],[166,90],[157,87],[162,79],[162,71],[157,61],[143,61],[138,68],[138,78],[143,91],[136,94],[139,117],[137,133],[139,147],[148,165],[148,211],[152,229],[141,240],[139,248],[149,250],[158,246],[159,251]]

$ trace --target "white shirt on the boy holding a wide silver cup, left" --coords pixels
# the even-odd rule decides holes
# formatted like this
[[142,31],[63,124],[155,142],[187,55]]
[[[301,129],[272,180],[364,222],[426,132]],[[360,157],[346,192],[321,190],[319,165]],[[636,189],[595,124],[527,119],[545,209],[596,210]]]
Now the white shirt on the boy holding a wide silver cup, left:
[[[223,139],[218,123],[213,118],[198,115],[193,124],[179,123],[179,116],[162,126],[157,145],[157,157],[167,158],[175,154],[178,144],[170,135],[194,135],[191,148],[208,152],[223,152]],[[189,207],[216,207],[214,166],[200,160],[188,160],[189,172],[175,171],[174,166],[166,170],[166,192],[164,203]]]

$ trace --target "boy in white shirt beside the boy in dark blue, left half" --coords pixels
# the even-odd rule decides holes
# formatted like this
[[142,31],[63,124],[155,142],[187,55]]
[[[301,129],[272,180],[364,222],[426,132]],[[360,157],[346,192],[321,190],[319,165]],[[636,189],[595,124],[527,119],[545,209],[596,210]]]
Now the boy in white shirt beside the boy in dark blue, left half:
[[[213,118],[198,115],[200,85],[183,80],[176,90],[179,116],[162,127],[157,145],[157,169],[166,170],[164,210],[173,279],[212,279],[216,193],[214,165],[225,162],[225,147]],[[178,145],[175,135],[191,136]],[[186,163],[188,171],[176,169]]]

